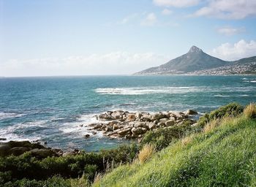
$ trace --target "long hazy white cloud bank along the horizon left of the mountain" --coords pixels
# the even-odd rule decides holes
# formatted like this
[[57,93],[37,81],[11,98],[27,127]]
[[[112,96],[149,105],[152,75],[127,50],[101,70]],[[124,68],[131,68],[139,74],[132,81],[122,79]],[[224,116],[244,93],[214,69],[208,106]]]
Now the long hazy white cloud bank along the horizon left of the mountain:
[[126,75],[170,60],[156,53],[114,52],[67,58],[12,59],[0,63],[0,76]]

